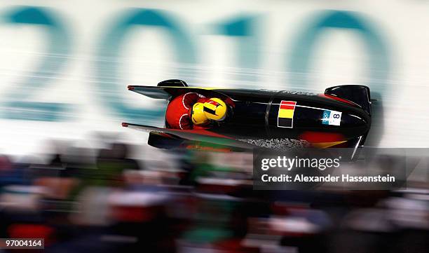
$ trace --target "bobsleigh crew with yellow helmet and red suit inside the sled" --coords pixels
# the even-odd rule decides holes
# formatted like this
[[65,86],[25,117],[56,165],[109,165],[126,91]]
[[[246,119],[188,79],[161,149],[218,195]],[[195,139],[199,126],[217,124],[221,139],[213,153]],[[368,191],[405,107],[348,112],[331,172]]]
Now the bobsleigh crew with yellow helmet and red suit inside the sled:
[[168,128],[207,129],[219,125],[232,114],[232,100],[185,93],[172,99],[165,113]]

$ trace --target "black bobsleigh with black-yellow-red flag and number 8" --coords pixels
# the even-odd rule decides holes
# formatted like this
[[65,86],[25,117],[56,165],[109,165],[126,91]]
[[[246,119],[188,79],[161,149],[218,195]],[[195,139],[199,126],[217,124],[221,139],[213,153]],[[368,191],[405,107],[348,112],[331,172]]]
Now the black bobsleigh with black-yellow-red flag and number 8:
[[172,128],[167,120],[165,128],[122,123],[123,127],[149,132],[149,145],[163,149],[357,149],[364,144],[371,125],[371,98],[367,86],[334,86],[323,94],[314,94],[193,88],[184,81],[167,80],[158,86],[128,86],[128,90],[169,103],[186,93],[227,102],[229,110],[225,118],[203,128]]

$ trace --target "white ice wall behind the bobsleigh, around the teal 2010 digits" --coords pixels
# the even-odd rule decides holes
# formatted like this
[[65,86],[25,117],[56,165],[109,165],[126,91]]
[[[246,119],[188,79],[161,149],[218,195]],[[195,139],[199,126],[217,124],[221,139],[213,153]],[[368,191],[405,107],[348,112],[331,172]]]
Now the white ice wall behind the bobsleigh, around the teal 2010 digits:
[[[368,20],[385,42],[388,52],[386,93],[382,93],[383,125],[380,146],[427,146],[429,143],[429,2],[415,0],[266,0],[266,1],[1,1],[0,20],[14,6],[42,6],[62,20],[69,34],[67,64],[46,86],[37,88],[26,100],[73,104],[66,121],[25,121],[0,118],[0,152],[37,153],[46,139],[76,139],[89,142],[94,131],[120,132],[120,139],[144,143],[147,134],[121,128],[123,115],[102,102],[102,93],[114,93],[128,107],[161,107],[162,102],[130,93],[130,83],[156,85],[166,78],[184,78],[191,86],[260,87],[300,89],[290,83],[292,46],[302,29],[320,12],[353,11]],[[116,64],[120,66],[118,90],[100,90],[97,56],[104,34],[129,8],[165,11],[189,34],[196,45],[196,64],[178,62],[169,37],[162,29],[134,28],[128,34]],[[255,17],[255,41],[249,55],[257,53],[256,69],[238,66],[237,38],[216,35],[213,24],[251,15]],[[35,78],[41,57],[46,53],[43,27],[0,22],[0,94],[2,101],[14,100],[10,90]],[[369,55],[359,33],[329,29],[311,57],[306,75],[308,90],[322,92],[341,83],[374,82],[368,75]],[[179,76],[179,69],[196,70]],[[242,74],[238,78],[238,74]],[[21,89],[20,93],[28,90]],[[2,113],[10,110],[2,107]],[[160,123],[161,121],[151,122]],[[86,140],[84,140],[86,139]],[[42,148],[41,148],[42,147]]]

